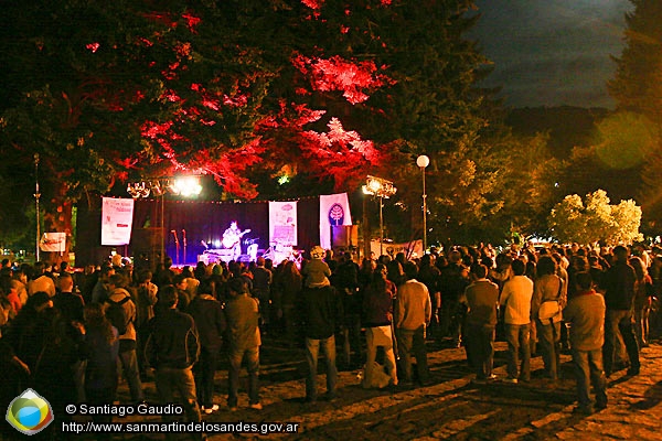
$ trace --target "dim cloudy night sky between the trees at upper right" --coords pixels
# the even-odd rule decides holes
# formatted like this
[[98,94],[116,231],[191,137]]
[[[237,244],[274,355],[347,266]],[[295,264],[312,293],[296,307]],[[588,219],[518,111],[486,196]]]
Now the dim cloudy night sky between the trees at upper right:
[[471,37],[492,62],[488,86],[510,107],[612,108],[606,83],[623,47],[628,0],[477,0]]

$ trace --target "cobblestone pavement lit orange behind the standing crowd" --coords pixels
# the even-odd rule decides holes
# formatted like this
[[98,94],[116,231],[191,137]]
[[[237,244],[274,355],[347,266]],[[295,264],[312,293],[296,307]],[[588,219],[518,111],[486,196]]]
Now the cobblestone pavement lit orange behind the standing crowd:
[[[204,416],[210,423],[257,423],[266,431],[270,422],[298,424],[297,433],[214,434],[211,440],[662,440],[662,342],[641,351],[641,374],[616,372],[609,378],[609,406],[591,416],[574,413],[575,381],[570,356],[562,355],[562,378],[549,384],[541,378],[542,358],[532,359],[532,380],[508,384],[505,343],[496,343],[496,380],[478,385],[467,368],[462,348],[429,344],[431,381],[425,387],[366,390],[357,370],[339,373],[339,396],[332,401],[303,402],[305,356],[266,338],[261,353],[261,404],[248,408],[244,391],[239,409],[225,406],[227,372],[216,376],[221,409]],[[320,363],[323,372],[323,363]],[[245,380],[245,379],[243,379]],[[320,394],[324,375],[318,376]],[[244,384],[245,386],[245,384]],[[156,397],[153,383],[146,384],[148,399]],[[126,397],[126,385],[121,386]],[[158,419],[153,419],[158,421]],[[143,434],[120,439],[161,439]],[[183,438],[182,438],[183,439]]]

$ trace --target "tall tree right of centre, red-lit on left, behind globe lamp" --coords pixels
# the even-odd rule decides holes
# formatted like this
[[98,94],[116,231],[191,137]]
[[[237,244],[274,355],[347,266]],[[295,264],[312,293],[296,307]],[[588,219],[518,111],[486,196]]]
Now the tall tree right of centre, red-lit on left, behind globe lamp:
[[[308,131],[299,130],[323,141],[302,144],[302,157],[312,153],[320,171],[335,170],[337,187],[355,187],[366,172],[399,182],[396,200],[404,205],[397,205],[420,217],[420,187],[408,183],[419,182],[415,159],[426,153],[429,224],[440,235],[469,235],[488,224],[503,203],[495,201],[500,165],[488,140],[498,132],[490,127],[494,106],[476,86],[488,62],[462,37],[478,19],[467,15],[472,1],[302,3],[292,8],[296,20],[281,24],[296,68],[286,76],[296,94],[287,100],[299,106],[288,110],[324,110]],[[370,160],[334,168],[343,147],[324,142],[344,139],[331,136],[340,127],[371,143]],[[308,161],[306,169],[317,164]]]

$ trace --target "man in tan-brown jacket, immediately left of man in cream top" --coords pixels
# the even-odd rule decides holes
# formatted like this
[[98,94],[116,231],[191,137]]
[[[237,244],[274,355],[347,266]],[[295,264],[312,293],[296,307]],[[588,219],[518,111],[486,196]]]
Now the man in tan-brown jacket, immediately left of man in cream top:
[[470,275],[473,282],[460,300],[467,304],[467,356],[476,369],[476,380],[485,381],[495,378],[492,365],[499,286],[488,280],[484,265],[474,263]]

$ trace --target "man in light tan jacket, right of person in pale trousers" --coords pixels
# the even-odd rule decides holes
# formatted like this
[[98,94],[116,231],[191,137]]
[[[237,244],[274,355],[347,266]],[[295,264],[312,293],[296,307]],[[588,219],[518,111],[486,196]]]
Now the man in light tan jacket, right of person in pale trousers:
[[426,326],[430,322],[433,306],[427,287],[416,280],[418,268],[409,262],[405,266],[407,281],[397,287],[395,302],[395,333],[401,356],[402,379],[414,383],[412,355],[416,357],[418,381],[426,385],[429,377],[427,349],[425,347]]

